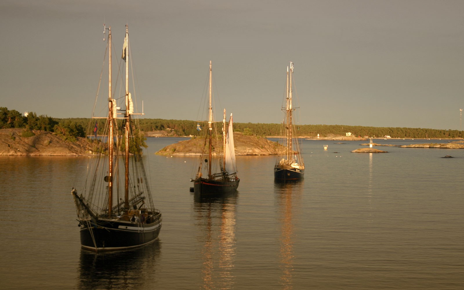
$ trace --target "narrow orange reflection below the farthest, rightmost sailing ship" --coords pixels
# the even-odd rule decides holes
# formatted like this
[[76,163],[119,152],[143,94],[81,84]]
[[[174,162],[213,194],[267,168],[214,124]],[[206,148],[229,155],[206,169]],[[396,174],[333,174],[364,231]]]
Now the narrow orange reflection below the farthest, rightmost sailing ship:
[[294,208],[293,203],[297,204],[301,200],[303,193],[303,180],[296,180],[293,182],[275,182],[274,193],[280,209],[279,221],[281,226],[280,234],[280,268],[282,274],[279,282],[283,289],[293,288],[293,259],[295,258],[293,249],[293,215]]

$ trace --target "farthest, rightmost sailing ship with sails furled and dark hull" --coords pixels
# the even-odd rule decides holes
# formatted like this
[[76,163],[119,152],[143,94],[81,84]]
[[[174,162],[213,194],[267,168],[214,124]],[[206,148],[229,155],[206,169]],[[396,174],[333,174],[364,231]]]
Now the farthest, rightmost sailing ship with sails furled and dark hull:
[[282,144],[283,150],[280,150],[277,161],[274,166],[274,180],[301,180],[304,175],[304,163],[301,155],[300,144],[296,135],[296,126],[294,123],[293,111],[296,109],[292,106],[292,80],[293,80],[293,63],[290,62],[290,71],[287,66],[287,79],[285,84],[285,107],[282,110],[285,113],[282,122],[282,137],[279,143]]

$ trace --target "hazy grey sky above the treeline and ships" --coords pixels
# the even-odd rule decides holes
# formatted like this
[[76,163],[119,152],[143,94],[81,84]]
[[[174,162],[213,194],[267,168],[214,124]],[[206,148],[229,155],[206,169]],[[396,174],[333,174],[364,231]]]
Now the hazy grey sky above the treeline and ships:
[[279,123],[291,61],[300,124],[462,129],[463,0],[2,0],[0,107],[92,116],[126,23],[146,118],[198,120],[211,60],[216,119]]

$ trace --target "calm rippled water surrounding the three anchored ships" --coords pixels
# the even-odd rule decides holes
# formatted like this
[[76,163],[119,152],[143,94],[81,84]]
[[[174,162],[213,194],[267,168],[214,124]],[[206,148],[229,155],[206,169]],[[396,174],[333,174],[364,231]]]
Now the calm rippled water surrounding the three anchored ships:
[[196,158],[154,155],[178,140],[148,140],[160,238],[106,254],[79,243],[71,187],[89,157],[0,156],[0,288],[464,289],[464,150],[305,140],[302,182],[238,156],[238,193],[200,200]]

